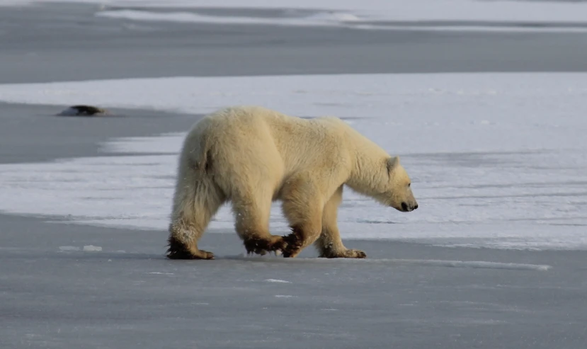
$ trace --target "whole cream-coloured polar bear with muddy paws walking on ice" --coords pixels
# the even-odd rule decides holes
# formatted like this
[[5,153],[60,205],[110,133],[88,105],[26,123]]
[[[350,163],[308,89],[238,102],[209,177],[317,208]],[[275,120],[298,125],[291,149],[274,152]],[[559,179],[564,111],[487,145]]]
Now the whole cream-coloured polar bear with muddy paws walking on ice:
[[[284,115],[260,106],[217,110],[183,141],[169,224],[171,259],[213,259],[198,249],[210,219],[232,203],[247,253],[295,257],[314,244],[321,257],[365,258],[343,245],[336,224],[343,186],[401,212],[418,208],[410,178],[374,142],[334,117]],[[269,232],[272,202],[292,229]]]

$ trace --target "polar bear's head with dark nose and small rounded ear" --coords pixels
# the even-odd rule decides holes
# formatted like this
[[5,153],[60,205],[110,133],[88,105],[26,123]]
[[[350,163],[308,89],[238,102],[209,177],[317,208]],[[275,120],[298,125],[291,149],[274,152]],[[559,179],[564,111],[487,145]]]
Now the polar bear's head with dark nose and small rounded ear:
[[399,156],[387,159],[387,180],[385,188],[380,193],[380,201],[384,205],[394,207],[401,212],[410,212],[418,208],[418,202],[411,192],[411,180],[401,164]]

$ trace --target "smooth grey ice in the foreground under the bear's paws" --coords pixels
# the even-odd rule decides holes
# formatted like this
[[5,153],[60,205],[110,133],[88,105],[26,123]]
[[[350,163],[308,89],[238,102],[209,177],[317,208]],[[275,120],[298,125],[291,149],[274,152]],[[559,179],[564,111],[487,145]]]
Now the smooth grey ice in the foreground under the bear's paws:
[[[79,244],[98,239],[104,250],[129,253],[44,249],[69,234]],[[161,231],[6,216],[0,246],[18,241],[36,250],[0,253],[0,314],[8,324],[0,326],[0,347],[585,346],[585,253],[348,241],[369,259],[166,261],[162,240]],[[203,246],[217,256],[242,250],[233,234],[206,234]],[[397,259],[385,259],[390,254]],[[480,261],[506,263],[475,268]],[[268,278],[291,283],[263,282]]]

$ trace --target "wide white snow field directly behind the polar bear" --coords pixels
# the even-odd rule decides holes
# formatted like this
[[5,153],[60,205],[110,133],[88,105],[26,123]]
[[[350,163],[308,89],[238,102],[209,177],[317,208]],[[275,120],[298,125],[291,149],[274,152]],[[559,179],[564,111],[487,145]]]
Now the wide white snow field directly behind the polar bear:
[[[198,114],[254,104],[302,117],[336,115],[401,157],[420,206],[402,213],[346,190],[339,213],[343,239],[490,248],[587,247],[587,74],[9,84],[0,85],[0,101]],[[183,136],[112,139],[102,144],[103,156],[2,164],[0,210],[69,215],[84,224],[166,229]],[[222,207],[209,231],[232,232],[233,222],[229,207]],[[274,234],[287,232],[278,203],[271,227]]]

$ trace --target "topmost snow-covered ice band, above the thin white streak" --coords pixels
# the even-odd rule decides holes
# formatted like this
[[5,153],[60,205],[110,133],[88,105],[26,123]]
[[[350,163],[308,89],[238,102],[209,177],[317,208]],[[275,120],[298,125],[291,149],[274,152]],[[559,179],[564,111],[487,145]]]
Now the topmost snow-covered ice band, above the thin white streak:
[[[43,0],[0,0],[0,5],[39,4]],[[336,16],[355,16],[363,21],[523,21],[584,22],[587,4],[574,1],[474,1],[474,0],[62,0],[60,2],[138,8],[298,8],[338,11]],[[127,9],[124,9],[127,11]],[[327,13],[327,12],[324,12]],[[137,18],[137,13],[119,16]],[[141,13],[140,16],[157,16]],[[185,18],[186,13],[174,20]],[[169,16],[167,16],[168,19]],[[200,18],[202,19],[202,18]],[[210,20],[210,18],[208,18]],[[236,19],[235,19],[236,20]]]

